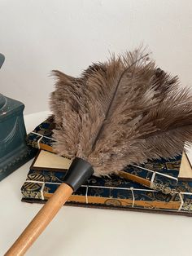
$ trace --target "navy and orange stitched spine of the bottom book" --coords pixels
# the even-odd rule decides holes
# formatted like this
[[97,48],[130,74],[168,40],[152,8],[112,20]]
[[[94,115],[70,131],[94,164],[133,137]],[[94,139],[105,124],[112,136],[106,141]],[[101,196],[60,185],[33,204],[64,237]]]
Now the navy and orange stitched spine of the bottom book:
[[[24,198],[48,200],[60,183],[27,180],[21,192]],[[139,209],[192,211],[192,193],[164,195],[150,189],[114,188],[83,185],[68,200],[87,205],[111,205]]]

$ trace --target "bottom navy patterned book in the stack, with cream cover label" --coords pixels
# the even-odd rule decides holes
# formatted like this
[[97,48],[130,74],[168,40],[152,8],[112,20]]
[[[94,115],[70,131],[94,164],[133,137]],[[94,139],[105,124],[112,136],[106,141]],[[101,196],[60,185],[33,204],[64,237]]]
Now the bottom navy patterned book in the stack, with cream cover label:
[[[21,188],[22,201],[44,203],[55,192],[59,184],[63,183],[71,161],[60,157],[62,159],[57,162],[55,157],[58,156],[50,152],[39,152]],[[148,210],[190,216],[192,214],[192,189],[186,187],[184,192],[175,192],[172,196],[145,188],[141,184],[116,175],[112,175],[111,178],[92,176],[72,194],[68,204],[120,210]]]

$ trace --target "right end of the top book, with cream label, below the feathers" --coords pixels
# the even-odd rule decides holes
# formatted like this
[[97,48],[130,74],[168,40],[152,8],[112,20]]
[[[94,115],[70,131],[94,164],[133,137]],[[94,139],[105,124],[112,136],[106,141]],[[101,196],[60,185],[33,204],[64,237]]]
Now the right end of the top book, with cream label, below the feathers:
[[[174,177],[175,171],[178,174]],[[174,195],[178,191],[185,192],[186,188],[192,186],[192,170],[185,151],[182,153],[182,157],[148,161],[141,166],[127,166],[120,171],[120,175],[165,194]]]

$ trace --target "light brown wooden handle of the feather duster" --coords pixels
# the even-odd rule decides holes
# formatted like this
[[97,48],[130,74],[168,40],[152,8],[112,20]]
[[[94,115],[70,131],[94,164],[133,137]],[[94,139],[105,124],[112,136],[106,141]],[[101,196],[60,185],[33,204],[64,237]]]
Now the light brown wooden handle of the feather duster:
[[25,228],[24,232],[7,251],[5,256],[24,255],[55,217],[62,205],[68,201],[68,197],[72,195],[72,192],[73,190],[68,184],[62,183],[53,196],[50,197],[50,200],[46,202],[46,205],[33,218],[32,222],[28,224],[28,227]]

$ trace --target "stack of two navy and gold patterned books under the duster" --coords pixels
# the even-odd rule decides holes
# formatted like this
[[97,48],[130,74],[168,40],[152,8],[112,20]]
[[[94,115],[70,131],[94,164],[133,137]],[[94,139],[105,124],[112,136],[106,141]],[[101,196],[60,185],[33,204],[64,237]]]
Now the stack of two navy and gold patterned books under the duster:
[[[28,134],[28,145],[38,148],[21,188],[22,201],[44,203],[63,183],[71,160],[53,152],[54,118],[49,117]],[[192,169],[182,156],[126,166],[119,175],[94,175],[70,196],[68,205],[137,210],[192,216]]]

